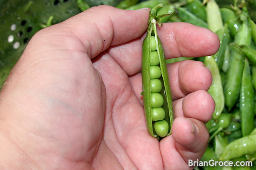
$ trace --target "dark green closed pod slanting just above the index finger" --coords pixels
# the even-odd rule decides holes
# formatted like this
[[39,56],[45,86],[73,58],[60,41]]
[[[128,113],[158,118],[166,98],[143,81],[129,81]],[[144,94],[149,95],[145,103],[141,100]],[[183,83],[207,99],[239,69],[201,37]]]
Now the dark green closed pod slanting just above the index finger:
[[177,14],[183,22],[191,23],[195,26],[208,28],[207,23],[204,20],[201,20],[200,18],[196,17],[194,14],[186,10],[186,8],[177,8]]

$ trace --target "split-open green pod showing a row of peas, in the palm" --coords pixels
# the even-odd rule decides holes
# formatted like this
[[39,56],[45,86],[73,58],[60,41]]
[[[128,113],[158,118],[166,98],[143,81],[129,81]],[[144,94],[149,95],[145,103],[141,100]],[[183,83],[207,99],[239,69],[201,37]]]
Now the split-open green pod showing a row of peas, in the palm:
[[[163,7],[163,4],[159,4],[151,9],[149,12],[149,19],[148,19],[148,29],[147,35],[143,41],[143,53],[142,53],[142,83],[143,83],[143,102],[144,102],[144,111],[145,111],[145,118],[148,127],[148,132],[151,136],[157,137],[158,139],[163,138],[171,134],[172,130],[172,122],[174,119],[173,111],[172,111],[172,94],[169,85],[169,76],[166,66],[166,59],[163,51],[163,45],[157,36],[157,24],[161,26],[160,18],[165,17],[169,14],[162,14],[157,16],[157,9]],[[156,52],[154,52],[156,51]],[[152,64],[151,59],[152,55],[156,54],[159,62],[153,62]],[[158,64],[159,63],[159,64]],[[157,64],[157,65],[155,65]],[[151,89],[151,67],[159,67],[160,68],[160,77],[157,79],[161,80],[162,88],[159,91],[157,96],[161,96],[160,100],[163,99],[163,102],[160,104],[155,104],[153,102],[153,94]],[[155,79],[156,77],[154,77]],[[159,99],[156,99],[157,101]],[[157,102],[158,103],[158,102]],[[164,110],[165,117],[163,120],[155,118],[152,119],[153,112],[152,110],[155,108],[163,108],[160,110]],[[155,111],[154,111],[155,114]],[[158,113],[157,113],[158,114]]]

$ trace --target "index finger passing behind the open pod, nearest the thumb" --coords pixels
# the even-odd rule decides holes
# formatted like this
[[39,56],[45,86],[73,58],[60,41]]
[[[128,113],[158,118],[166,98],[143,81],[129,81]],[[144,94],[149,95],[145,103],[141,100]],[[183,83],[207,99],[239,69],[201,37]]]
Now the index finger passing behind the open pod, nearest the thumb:
[[[189,23],[163,23],[163,26],[158,28],[157,35],[163,44],[166,59],[213,55],[220,45],[217,34],[207,28]],[[140,39],[111,47],[108,50],[128,75],[133,75],[141,69],[144,37],[145,34]]]

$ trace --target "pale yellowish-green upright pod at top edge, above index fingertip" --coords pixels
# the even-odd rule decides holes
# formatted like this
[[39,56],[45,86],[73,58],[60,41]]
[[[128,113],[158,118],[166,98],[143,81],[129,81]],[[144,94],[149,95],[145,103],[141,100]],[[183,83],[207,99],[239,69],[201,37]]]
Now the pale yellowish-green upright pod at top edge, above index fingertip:
[[215,0],[208,0],[206,6],[208,28],[213,32],[223,27],[221,12]]

